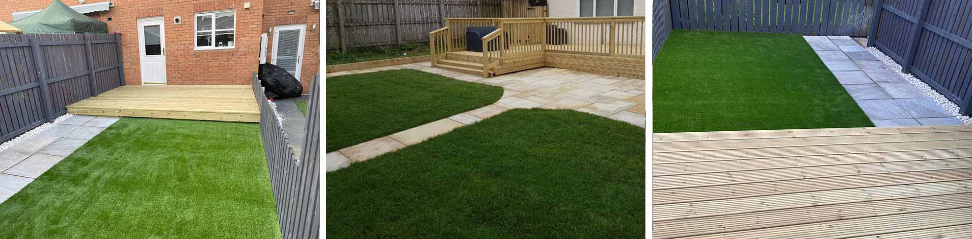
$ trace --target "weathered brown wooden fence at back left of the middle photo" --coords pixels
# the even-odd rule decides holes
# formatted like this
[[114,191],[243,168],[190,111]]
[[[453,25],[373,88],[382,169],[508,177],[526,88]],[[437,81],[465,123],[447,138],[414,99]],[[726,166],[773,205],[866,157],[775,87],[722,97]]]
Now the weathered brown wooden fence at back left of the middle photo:
[[429,41],[445,17],[501,17],[499,0],[329,0],[328,50]]

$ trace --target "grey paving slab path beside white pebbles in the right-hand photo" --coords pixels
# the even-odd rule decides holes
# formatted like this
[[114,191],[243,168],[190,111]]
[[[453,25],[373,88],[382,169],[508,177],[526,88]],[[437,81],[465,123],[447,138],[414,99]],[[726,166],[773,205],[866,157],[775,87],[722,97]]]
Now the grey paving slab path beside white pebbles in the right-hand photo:
[[864,114],[879,127],[963,124],[847,36],[804,36]]

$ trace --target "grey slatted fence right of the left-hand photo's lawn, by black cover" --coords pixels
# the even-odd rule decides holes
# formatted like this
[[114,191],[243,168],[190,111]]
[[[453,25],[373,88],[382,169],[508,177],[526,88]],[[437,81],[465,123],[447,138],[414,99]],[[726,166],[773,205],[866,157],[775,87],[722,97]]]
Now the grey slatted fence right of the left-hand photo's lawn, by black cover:
[[257,74],[253,75],[253,92],[260,105],[263,151],[266,153],[266,166],[270,171],[270,184],[273,186],[283,238],[318,238],[321,230],[318,221],[321,188],[321,172],[318,171],[321,95],[318,82],[318,76],[314,76],[307,106],[303,154],[297,157],[291,149],[290,140],[284,135],[283,122],[270,108],[270,101],[263,97],[263,87],[257,80]]

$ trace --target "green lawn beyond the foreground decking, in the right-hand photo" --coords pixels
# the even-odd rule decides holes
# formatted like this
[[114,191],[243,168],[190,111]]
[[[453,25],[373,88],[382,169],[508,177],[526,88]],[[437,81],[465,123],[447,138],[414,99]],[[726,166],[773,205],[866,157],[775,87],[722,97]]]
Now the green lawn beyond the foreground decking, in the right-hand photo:
[[656,133],[874,126],[799,35],[673,30],[653,74]]

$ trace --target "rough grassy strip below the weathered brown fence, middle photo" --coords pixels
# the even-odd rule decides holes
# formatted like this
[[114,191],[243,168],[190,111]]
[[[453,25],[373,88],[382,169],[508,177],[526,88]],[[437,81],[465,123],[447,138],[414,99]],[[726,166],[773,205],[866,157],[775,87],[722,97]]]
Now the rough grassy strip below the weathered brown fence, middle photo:
[[328,65],[346,64],[369,60],[391,59],[399,57],[411,57],[429,54],[428,43],[402,44],[399,46],[388,47],[365,47],[353,48],[341,52],[337,50],[328,51]]

